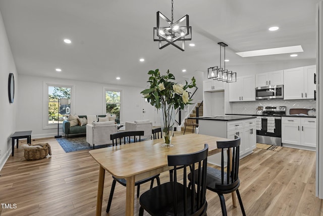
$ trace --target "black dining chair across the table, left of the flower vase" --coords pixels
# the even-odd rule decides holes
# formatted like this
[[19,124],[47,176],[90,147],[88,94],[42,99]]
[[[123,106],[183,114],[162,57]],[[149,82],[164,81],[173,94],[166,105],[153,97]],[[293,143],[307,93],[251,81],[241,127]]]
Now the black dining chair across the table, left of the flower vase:
[[[137,139],[136,139],[137,136],[139,136],[139,142],[140,142],[140,136],[143,136],[143,135],[144,135],[143,131],[127,131],[127,132],[120,132],[120,133],[112,134],[112,135],[110,135],[110,139],[113,141],[113,146],[115,144],[117,146],[118,145],[118,140],[119,140],[119,144],[122,143],[122,140],[123,140],[124,144],[126,144],[127,140],[128,140],[128,143],[131,143],[131,141],[133,141],[133,143],[136,143],[137,142]],[[133,137],[133,139],[131,139],[132,137]],[[121,185],[127,187],[126,179],[118,179],[118,178],[116,178],[114,176],[112,176],[112,178],[113,178],[113,182],[112,182],[112,186],[111,186],[109,201],[107,202],[107,206],[106,206],[106,212],[110,211],[113,194],[114,194],[115,188],[116,188],[116,183],[119,182]],[[151,183],[150,183],[150,189],[151,189],[153,187],[154,179],[156,179],[157,185],[160,185],[159,174],[135,182],[135,186],[137,186],[137,197],[139,197],[140,185],[143,184],[143,183],[151,181]]]

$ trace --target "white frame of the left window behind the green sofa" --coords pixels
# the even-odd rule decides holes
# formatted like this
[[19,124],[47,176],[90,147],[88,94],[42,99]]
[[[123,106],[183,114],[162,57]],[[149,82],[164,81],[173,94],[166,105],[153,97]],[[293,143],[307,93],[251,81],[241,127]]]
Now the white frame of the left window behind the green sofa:
[[[71,84],[64,84],[61,82],[43,82],[43,114],[42,114],[42,127],[43,129],[53,129],[57,128],[57,123],[48,124],[48,87],[62,87],[62,88],[70,88],[71,89],[71,99],[70,99],[70,114],[74,113],[74,105],[75,105],[75,99],[74,99],[74,92],[75,92],[75,85]],[[63,126],[63,121],[60,122],[60,128]]]

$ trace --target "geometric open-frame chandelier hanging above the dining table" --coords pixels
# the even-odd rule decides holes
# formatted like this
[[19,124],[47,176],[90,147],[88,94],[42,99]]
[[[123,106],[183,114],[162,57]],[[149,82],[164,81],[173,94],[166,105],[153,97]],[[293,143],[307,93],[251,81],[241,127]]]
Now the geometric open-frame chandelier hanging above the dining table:
[[[181,51],[184,51],[185,40],[192,39],[191,26],[189,26],[188,15],[185,15],[176,22],[173,22],[173,16],[174,13],[172,0],[172,20],[168,19],[159,11],[157,12],[157,27],[153,28],[153,40],[159,42],[159,49],[173,45]],[[165,27],[160,26],[160,21],[163,21],[165,23]],[[177,45],[180,41],[182,41],[181,47]]]

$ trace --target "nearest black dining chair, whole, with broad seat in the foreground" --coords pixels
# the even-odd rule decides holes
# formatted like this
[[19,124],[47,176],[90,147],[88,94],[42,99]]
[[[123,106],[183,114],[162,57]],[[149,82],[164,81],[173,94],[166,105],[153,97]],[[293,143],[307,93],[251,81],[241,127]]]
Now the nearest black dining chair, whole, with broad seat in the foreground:
[[[206,169],[208,145],[198,152],[182,155],[168,155],[168,165],[173,166],[174,180],[144,192],[140,198],[139,215],[147,211],[150,215],[206,215]],[[177,166],[184,166],[183,183],[178,180]],[[187,187],[187,167],[192,167],[198,178],[193,179],[197,187]],[[195,170],[195,167],[197,169]],[[179,175],[180,177],[180,175]]]

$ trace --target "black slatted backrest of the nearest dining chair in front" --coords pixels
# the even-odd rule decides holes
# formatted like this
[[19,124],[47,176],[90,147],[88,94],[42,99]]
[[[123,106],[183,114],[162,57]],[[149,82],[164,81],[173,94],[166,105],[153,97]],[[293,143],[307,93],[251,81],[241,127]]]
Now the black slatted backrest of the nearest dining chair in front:
[[[174,202],[174,215],[177,212],[184,212],[184,215],[205,215],[207,209],[206,202],[206,170],[207,170],[207,153],[208,145],[204,144],[204,149],[191,154],[182,155],[168,155],[168,165],[174,166],[174,186],[177,182],[177,167],[183,166],[183,209],[178,209],[178,203]],[[197,166],[197,167],[196,167]],[[187,187],[187,167],[190,167],[193,174],[193,181],[196,182],[197,187]],[[197,179],[195,180],[194,172],[197,172]],[[180,178],[182,179],[182,178]],[[174,187],[173,200],[177,200],[177,187]],[[189,194],[188,194],[189,193]],[[194,196],[192,196],[194,194]],[[187,198],[189,197],[189,200]],[[190,210],[189,210],[190,209]],[[187,212],[190,211],[190,212]]]

